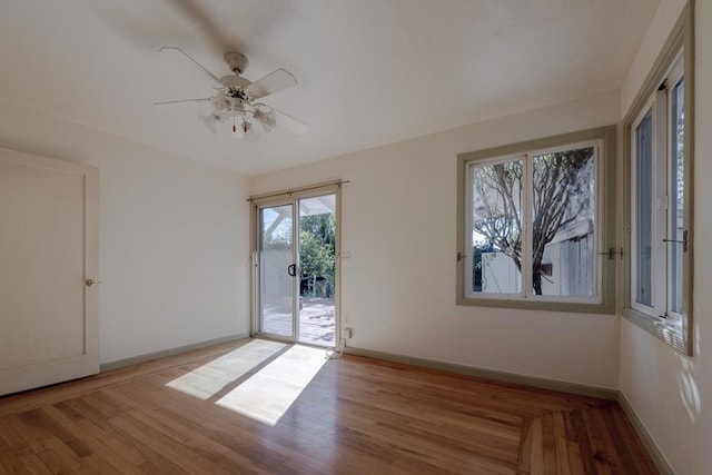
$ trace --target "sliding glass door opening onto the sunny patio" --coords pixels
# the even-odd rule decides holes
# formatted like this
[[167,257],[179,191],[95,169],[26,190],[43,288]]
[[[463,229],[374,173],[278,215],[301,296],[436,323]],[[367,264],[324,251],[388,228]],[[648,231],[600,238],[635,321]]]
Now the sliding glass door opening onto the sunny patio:
[[256,200],[256,334],[336,345],[338,198],[336,188]]

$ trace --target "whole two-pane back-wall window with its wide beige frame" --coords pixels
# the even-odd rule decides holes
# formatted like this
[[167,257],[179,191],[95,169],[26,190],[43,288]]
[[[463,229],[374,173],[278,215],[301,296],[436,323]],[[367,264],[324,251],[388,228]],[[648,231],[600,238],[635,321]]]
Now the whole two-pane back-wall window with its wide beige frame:
[[458,304],[613,313],[614,147],[612,126],[459,156]]

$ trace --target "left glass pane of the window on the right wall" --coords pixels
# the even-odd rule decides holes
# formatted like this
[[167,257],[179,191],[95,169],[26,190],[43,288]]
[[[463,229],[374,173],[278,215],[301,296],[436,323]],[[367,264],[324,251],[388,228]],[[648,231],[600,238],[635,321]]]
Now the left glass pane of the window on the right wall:
[[635,301],[649,307],[653,304],[653,118],[652,112],[647,112],[635,128],[633,296]]

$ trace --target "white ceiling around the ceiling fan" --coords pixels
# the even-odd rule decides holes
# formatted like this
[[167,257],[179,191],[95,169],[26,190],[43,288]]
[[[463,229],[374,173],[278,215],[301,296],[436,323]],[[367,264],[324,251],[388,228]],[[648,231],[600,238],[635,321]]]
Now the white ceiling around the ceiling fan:
[[[0,99],[245,175],[616,89],[659,0],[0,0]],[[209,132],[226,50],[309,123]]]

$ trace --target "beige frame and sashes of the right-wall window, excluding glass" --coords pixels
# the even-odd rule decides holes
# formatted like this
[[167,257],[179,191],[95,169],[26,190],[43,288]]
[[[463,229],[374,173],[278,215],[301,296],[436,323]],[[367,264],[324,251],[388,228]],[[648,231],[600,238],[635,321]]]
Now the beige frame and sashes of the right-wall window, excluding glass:
[[[693,4],[689,1],[678,19],[670,37],[657,56],[651,71],[649,72],[643,86],[637,91],[635,99],[627,113],[623,119],[623,172],[621,174],[623,190],[623,229],[625,232],[621,236],[624,246],[624,265],[623,265],[623,288],[622,288],[622,315],[634,325],[645,329],[659,339],[663,340],[681,353],[692,356],[692,298],[693,298],[693,276],[694,276],[694,21]],[[682,67],[679,62],[682,61]],[[635,288],[634,273],[634,219],[633,210],[633,166],[635,164],[635,126],[639,119],[646,111],[653,108],[653,118],[657,123],[653,125],[653,133],[655,133],[654,144],[657,150],[664,150],[664,158],[654,157],[654,167],[656,172],[666,170],[665,176],[656,179],[656,189],[661,184],[665,188],[668,196],[666,208],[672,205],[673,197],[670,196],[670,179],[668,176],[671,166],[672,140],[669,141],[672,133],[671,120],[672,111],[672,93],[680,80],[684,81],[683,101],[684,101],[684,190],[683,190],[683,232],[686,232],[688,250],[683,251],[682,264],[682,314],[671,311],[670,297],[672,293],[671,278],[672,260],[670,253],[665,250],[665,255],[657,257],[657,261],[664,265],[664,276],[660,276],[659,270],[654,270],[654,278],[659,283],[657,287],[664,290],[663,297],[656,298],[654,306],[646,307],[636,303],[633,298],[633,289]],[[665,83],[666,81],[666,83]],[[664,86],[664,87],[663,87]],[[664,110],[660,110],[664,109]],[[661,137],[662,135],[662,137]],[[665,178],[666,177],[666,178]],[[654,205],[655,206],[655,205]],[[660,214],[660,211],[657,211]],[[659,234],[662,238],[670,239],[671,217],[666,210],[663,210],[664,218],[657,218],[656,228],[661,228]],[[661,236],[655,237],[662,243]],[[655,247],[660,247],[660,243],[655,243]],[[660,291],[660,290],[659,290]],[[655,314],[664,314],[664,317]]]

